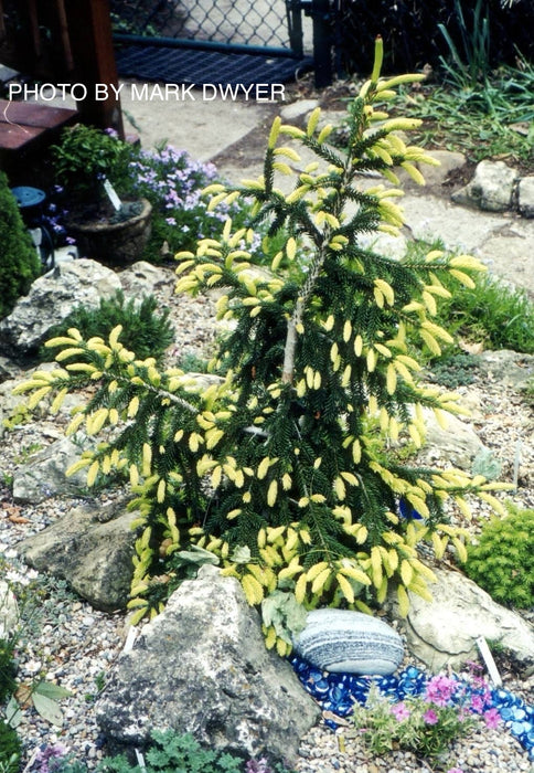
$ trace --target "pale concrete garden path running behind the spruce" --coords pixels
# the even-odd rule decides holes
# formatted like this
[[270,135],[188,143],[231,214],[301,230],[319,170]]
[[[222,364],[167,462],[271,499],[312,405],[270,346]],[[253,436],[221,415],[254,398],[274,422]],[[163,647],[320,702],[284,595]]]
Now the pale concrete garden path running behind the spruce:
[[[268,88],[245,96],[243,89],[236,94],[222,87],[222,94],[221,87],[210,84],[165,92],[164,84],[121,83],[126,130],[137,133],[145,148],[167,142],[184,149],[194,159],[214,161],[232,182],[261,173],[270,123],[299,96],[296,86],[275,89],[275,98],[268,102]],[[64,100],[61,105],[70,106]],[[534,221],[510,212],[469,210],[453,204],[450,193],[449,186],[439,183],[407,186],[406,234],[429,241],[440,237],[447,247],[473,253],[494,274],[534,296]],[[399,252],[398,244],[386,248]]]

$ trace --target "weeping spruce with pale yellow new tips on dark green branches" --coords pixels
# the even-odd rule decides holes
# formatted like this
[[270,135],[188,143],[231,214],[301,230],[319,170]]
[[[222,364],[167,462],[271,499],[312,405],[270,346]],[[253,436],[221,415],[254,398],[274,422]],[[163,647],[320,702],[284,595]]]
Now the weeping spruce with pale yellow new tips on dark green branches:
[[[250,604],[267,603],[266,642],[284,655],[290,634],[275,625],[274,600],[370,611],[393,587],[406,613],[407,591],[429,597],[434,578],[420,541],[438,558],[449,542],[466,555],[466,532],[449,523],[444,504],[467,513],[466,498],[478,495],[500,509],[491,491],[502,485],[409,466],[397,453],[399,437],[423,444],[424,406],[441,423],[447,411],[460,412],[453,394],[419,383],[417,373],[424,346],[439,354],[452,341],[435,321],[450,295],[444,277],[470,286],[466,271],[482,266],[440,250],[399,263],[359,243],[362,233],[397,233],[403,224],[395,169],[420,182],[414,162],[432,162],[397,134],[417,120],[375,109],[417,80],[381,78],[381,62],[378,40],[371,80],[350,105],[345,153],[329,144],[332,127],[319,126],[319,109],[306,130],[277,118],[264,174],[205,191],[210,209],[253,202],[250,229],[227,220],[217,239],[178,255],[177,290],[224,290],[218,316],[233,322],[207,389],[178,368],[137,358],[120,326],[106,339],[85,340],[75,328],[52,339],[60,368],[19,389],[32,392],[30,407],[55,395],[56,410],[68,391],[94,388],[67,432],[84,427],[96,444],[71,472],[87,468],[89,486],[110,469],[129,474],[140,513],[134,622],[163,607],[173,557],[201,548],[241,580]],[[317,163],[293,172],[295,144]],[[357,174],[370,170],[394,187],[360,190]],[[287,194],[279,174],[293,177]],[[269,272],[252,264],[247,248],[257,223],[286,234]]]

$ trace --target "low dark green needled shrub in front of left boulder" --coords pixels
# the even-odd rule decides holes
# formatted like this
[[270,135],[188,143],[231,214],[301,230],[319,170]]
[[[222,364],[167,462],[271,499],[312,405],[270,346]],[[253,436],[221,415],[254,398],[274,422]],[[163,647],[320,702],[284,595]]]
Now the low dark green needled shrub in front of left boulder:
[[[61,337],[70,328],[76,328],[86,339],[106,338],[109,330],[121,325],[125,346],[141,359],[153,357],[159,362],[172,343],[174,333],[169,321],[169,309],[163,308],[159,314],[157,309],[158,301],[152,295],[143,296],[139,303],[135,298],[125,301],[122,290],[118,290],[113,298],[103,298],[97,309],[78,306],[61,326],[52,330],[52,335]],[[44,347],[41,357],[43,360],[53,359]]]

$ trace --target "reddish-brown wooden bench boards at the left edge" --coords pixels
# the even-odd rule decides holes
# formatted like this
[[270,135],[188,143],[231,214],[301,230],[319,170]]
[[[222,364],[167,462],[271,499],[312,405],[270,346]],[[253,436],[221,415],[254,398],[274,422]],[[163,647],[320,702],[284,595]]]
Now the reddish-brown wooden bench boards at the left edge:
[[30,152],[56,141],[60,129],[77,116],[66,107],[0,99],[0,168],[15,168]]

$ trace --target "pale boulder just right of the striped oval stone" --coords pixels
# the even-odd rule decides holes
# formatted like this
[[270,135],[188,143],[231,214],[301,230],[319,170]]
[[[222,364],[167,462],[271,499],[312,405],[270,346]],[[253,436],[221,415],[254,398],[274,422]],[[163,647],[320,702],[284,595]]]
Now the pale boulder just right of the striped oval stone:
[[[410,608],[402,621],[409,652],[431,670],[460,668],[477,656],[477,639],[501,645],[527,673],[534,665],[534,631],[461,572],[434,570],[432,601],[409,592]],[[396,605],[394,604],[394,611]]]

